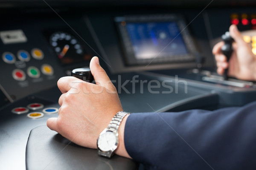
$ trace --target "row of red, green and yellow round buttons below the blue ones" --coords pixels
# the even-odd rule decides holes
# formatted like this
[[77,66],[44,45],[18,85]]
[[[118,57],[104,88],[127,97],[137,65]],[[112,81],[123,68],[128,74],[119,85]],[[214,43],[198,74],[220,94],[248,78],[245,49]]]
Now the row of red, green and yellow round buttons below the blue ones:
[[[52,76],[53,68],[49,64],[44,64],[41,66],[41,72],[47,76]],[[29,75],[29,77],[32,78],[40,77],[40,71],[34,66],[30,66],[27,69],[27,74]],[[18,81],[24,81],[26,79],[26,74],[21,69],[15,69],[14,71],[12,71],[12,77]]]

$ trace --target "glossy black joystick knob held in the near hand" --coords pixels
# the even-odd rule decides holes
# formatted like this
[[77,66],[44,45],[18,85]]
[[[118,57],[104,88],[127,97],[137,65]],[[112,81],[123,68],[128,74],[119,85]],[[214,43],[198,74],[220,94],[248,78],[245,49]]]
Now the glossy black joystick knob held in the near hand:
[[93,82],[93,75],[90,71],[90,68],[76,68],[71,71],[71,76],[86,82]]

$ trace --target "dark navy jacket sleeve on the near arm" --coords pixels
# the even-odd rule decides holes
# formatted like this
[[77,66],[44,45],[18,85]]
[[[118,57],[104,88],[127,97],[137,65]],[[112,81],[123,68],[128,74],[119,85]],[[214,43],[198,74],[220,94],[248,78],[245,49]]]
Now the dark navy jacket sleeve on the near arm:
[[256,169],[256,102],[216,111],[132,113],[128,154],[148,169]]

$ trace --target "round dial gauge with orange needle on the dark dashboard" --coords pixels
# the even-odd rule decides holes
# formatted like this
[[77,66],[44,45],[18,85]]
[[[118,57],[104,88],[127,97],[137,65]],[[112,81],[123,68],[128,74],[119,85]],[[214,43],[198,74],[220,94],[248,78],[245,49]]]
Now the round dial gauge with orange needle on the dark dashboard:
[[69,64],[84,60],[84,49],[73,35],[63,31],[54,32],[49,41],[61,63]]

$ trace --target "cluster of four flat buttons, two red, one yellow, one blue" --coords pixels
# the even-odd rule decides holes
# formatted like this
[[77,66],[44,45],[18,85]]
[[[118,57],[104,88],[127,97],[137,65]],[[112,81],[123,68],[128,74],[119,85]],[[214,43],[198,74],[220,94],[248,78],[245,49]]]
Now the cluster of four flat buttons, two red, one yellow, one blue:
[[[41,104],[41,103],[31,103],[31,104],[27,105],[26,108],[25,107],[18,107],[18,108],[12,109],[12,113],[23,114],[23,113],[28,113],[29,109],[35,111],[35,110],[41,109],[41,108],[44,108],[43,104]],[[58,113],[58,109],[57,108],[45,108],[45,109],[43,109],[42,112],[31,112],[31,113],[27,114],[27,117],[32,118],[32,119],[41,118],[41,117],[44,116],[44,113],[46,113],[46,114]]]

